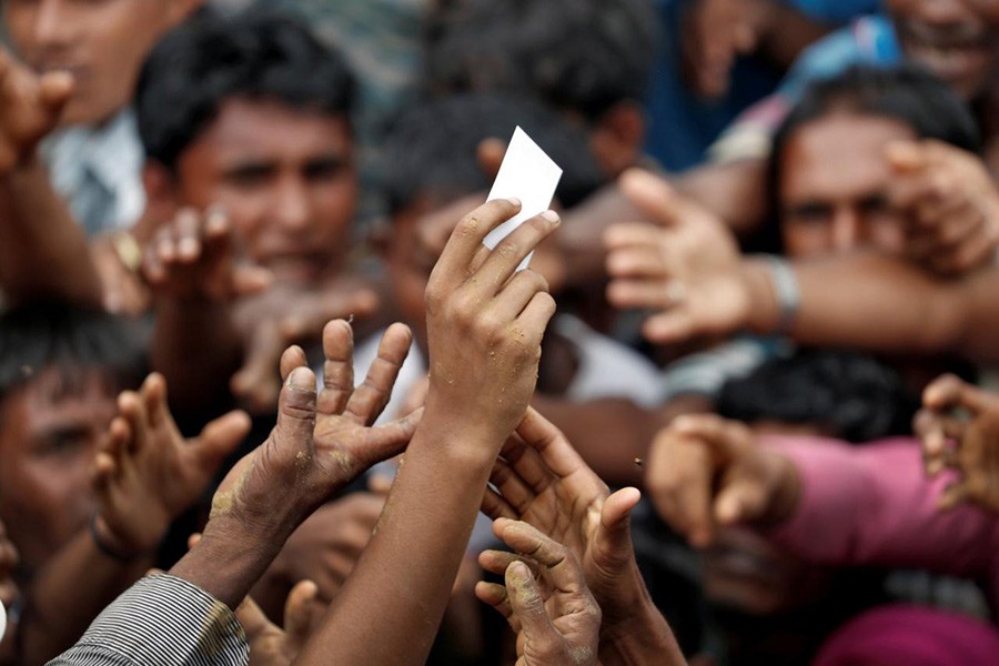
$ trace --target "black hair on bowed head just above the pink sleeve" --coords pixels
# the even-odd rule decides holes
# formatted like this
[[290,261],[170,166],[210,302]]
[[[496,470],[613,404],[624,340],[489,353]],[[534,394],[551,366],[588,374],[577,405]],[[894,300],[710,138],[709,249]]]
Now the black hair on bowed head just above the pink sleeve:
[[717,412],[739,421],[816,425],[848,442],[911,434],[919,395],[894,369],[852,352],[803,351],[729,380]]

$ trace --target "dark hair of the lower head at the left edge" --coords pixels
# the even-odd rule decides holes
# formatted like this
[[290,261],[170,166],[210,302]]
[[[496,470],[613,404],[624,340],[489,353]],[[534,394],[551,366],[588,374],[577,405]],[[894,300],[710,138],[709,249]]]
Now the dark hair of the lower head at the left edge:
[[57,302],[38,302],[0,314],[0,415],[7,397],[48,369],[68,391],[98,371],[111,391],[138,386],[147,371],[139,323]]

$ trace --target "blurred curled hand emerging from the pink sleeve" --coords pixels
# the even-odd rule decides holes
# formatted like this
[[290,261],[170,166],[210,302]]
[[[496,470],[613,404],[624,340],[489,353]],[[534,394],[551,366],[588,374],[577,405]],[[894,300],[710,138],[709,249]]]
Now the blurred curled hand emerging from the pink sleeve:
[[712,414],[677,417],[647,464],[653,504],[696,547],[709,545],[718,525],[787,517],[798,497],[790,461],[757,446],[746,425]]

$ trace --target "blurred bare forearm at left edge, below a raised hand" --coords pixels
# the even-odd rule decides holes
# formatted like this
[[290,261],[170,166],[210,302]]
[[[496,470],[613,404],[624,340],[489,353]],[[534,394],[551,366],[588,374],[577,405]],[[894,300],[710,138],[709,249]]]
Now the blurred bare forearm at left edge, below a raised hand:
[[57,297],[100,307],[87,236],[39,159],[0,176],[0,286],[11,302]]

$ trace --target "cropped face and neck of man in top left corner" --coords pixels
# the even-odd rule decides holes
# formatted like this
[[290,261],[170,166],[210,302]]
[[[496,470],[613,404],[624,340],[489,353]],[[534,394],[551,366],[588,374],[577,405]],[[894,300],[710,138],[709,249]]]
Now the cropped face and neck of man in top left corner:
[[75,89],[62,124],[100,123],[127,107],[160,36],[198,0],[2,0],[21,58],[39,72],[64,70]]

